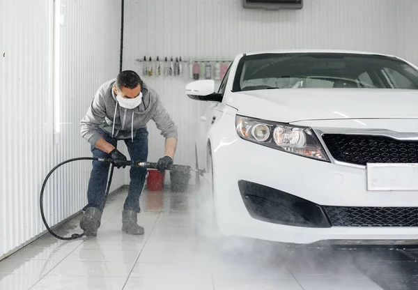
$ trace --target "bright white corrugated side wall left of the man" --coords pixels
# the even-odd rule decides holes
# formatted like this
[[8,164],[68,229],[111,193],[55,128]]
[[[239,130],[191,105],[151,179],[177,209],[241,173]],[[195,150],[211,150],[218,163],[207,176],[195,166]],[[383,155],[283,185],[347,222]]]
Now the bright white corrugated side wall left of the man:
[[[42,180],[58,162],[91,156],[79,121],[119,66],[121,1],[61,0],[59,119],[54,112],[54,1],[0,0],[0,258],[45,230]],[[55,113],[55,114],[54,114]],[[59,144],[54,143],[54,119]],[[55,130],[56,130],[55,128]],[[56,171],[45,199],[51,225],[86,204],[91,163]],[[116,172],[113,189],[123,185]]]

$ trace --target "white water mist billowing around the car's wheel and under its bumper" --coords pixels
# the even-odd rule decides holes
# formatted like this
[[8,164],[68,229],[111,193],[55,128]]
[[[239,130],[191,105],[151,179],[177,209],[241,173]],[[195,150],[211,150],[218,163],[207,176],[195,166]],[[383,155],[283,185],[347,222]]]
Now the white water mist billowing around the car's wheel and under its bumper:
[[[223,236],[217,229],[210,180],[210,175],[206,175],[194,199],[189,200],[190,218],[196,228],[196,253],[206,263],[226,266],[226,276],[234,277],[235,273],[241,272],[248,275],[247,279],[280,280],[287,271],[297,280],[360,281],[369,277],[379,282],[384,277],[396,277],[401,273],[396,267],[383,266],[402,259],[393,249],[286,245]],[[380,268],[379,264],[382,265]],[[397,282],[398,286],[402,283]]]

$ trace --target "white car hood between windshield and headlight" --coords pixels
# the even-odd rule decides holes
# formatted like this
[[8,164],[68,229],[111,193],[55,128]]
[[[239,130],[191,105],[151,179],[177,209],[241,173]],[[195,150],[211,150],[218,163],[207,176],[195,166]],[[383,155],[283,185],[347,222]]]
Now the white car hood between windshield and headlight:
[[418,118],[416,90],[270,89],[230,93],[226,103],[238,114],[284,123]]

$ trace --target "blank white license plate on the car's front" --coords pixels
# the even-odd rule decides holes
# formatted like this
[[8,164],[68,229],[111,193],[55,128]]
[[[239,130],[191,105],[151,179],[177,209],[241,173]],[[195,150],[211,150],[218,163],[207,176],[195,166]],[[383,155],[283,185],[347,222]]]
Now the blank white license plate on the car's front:
[[418,163],[369,163],[367,190],[418,190]]

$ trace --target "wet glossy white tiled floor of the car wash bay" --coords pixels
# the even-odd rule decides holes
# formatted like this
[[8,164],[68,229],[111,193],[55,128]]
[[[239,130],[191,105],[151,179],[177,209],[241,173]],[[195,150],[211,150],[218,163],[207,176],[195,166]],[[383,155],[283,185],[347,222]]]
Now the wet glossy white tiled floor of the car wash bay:
[[[203,241],[196,235],[192,192],[144,193],[139,224],[146,233],[123,234],[125,194],[109,197],[96,238],[63,242],[46,235],[1,261],[0,289],[381,289],[345,255]],[[79,232],[77,224],[75,218],[59,231]]]

